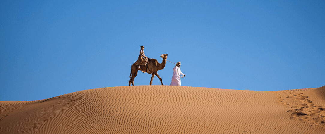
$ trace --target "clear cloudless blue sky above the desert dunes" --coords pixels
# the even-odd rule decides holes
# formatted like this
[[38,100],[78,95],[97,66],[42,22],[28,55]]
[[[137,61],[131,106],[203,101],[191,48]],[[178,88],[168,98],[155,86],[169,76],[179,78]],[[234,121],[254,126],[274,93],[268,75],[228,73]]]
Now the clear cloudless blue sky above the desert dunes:
[[[325,85],[325,1],[1,1],[0,101],[128,86],[140,46],[182,86]],[[175,65],[158,71],[164,85]],[[149,85],[138,72],[135,85]],[[153,85],[160,85],[157,77]]]

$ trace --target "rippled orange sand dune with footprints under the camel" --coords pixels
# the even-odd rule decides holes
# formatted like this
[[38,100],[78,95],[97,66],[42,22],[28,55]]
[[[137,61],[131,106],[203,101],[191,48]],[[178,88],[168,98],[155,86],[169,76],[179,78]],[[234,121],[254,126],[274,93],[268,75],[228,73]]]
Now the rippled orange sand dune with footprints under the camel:
[[0,102],[0,133],[324,133],[325,86],[125,86]]

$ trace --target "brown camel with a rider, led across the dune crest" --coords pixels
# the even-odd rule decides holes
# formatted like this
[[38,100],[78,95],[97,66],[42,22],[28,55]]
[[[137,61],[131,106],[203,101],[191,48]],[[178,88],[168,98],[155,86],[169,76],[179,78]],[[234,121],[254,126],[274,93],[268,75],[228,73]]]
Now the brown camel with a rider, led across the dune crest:
[[[168,56],[168,54],[162,54],[160,56],[160,57],[162,57],[161,64],[156,59],[151,59],[150,61],[148,61],[147,65],[140,66],[141,71],[145,71],[148,74],[152,74],[151,80],[150,80],[150,86],[152,84],[152,79],[153,79],[153,77],[155,77],[155,75],[159,78],[160,82],[162,83],[162,78],[158,75],[157,71],[162,70],[165,67],[167,56]],[[138,73],[137,65],[136,65],[136,63],[133,63],[131,66],[129,86],[131,86],[131,83],[132,83],[132,86],[134,86],[133,81],[134,81],[134,78],[136,77],[137,73]]]

